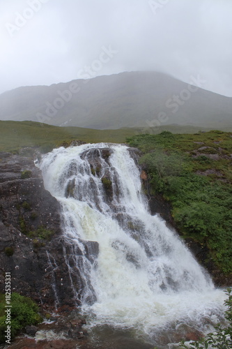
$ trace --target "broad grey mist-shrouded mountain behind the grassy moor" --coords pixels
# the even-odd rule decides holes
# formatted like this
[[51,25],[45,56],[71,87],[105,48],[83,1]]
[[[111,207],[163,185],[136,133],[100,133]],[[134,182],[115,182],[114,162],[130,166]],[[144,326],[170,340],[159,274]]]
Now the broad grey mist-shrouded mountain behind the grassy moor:
[[[155,72],[19,87],[0,95],[0,119],[107,129],[167,124],[232,127],[232,98]],[[195,86],[194,86],[195,85]]]

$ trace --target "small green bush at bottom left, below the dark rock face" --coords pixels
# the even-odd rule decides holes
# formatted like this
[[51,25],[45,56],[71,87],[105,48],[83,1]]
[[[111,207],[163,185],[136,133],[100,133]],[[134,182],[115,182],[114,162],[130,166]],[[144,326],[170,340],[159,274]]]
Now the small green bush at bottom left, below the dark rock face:
[[[0,295],[0,343],[5,343],[6,338],[6,296]],[[38,306],[30,298],[13,292],[10,298],[10,332],[13,339],[26,325],[37,325],[42,322],[38,314]]]

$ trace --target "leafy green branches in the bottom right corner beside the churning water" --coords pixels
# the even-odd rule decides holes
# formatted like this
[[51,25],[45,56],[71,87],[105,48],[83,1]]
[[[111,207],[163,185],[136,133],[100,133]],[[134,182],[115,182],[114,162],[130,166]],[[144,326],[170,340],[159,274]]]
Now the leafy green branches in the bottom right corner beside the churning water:
[[224,302],[227,306],[225,311],[225,318],[228,322],[226,327],[221,325],[216,327],[215,332],[209,333],[201,341],[194,341],[185,345],[185,341],[182,341],[182,345],[179,346],[180,349],[208,349],[208,348],[217,348],[217,349],[226,349],[232,348],[232,295],[231,289],[227,290],[228,298]]

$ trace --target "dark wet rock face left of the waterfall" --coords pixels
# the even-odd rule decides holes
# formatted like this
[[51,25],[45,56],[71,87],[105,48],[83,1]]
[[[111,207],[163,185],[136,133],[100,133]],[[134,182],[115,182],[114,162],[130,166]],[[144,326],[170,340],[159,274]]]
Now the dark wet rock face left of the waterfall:
[[60,211],[31,158],[0,153],[0,292],[10,272],[12,292],[42,304],[78,304],[84,281],[78,267],[75,279],[69,273],[67,258],[79,253],[93,263],[98,246],[83,242],[84,251],[72,251]]

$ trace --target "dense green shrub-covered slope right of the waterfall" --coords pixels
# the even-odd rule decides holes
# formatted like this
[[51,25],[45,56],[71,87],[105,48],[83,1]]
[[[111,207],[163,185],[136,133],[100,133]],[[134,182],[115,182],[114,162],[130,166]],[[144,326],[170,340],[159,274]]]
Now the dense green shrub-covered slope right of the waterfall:
[[[173,221],[183,238],[207,246],[208,259],[232,272],[232,134],[137,135],[127,140],[144,155],[151,193],[171,203]],[[210,154],[206,149],[211,149]],[[212,151],[213,149],[213,151]]]

